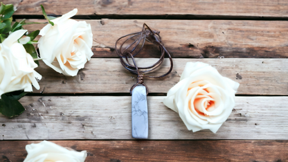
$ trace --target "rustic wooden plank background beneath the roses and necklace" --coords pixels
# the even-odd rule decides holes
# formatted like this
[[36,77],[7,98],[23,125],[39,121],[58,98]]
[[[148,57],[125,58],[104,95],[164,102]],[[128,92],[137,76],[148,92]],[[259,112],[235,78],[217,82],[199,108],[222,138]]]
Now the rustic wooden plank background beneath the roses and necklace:
[[[23,161],[25,145],[53,141],[87,150],[87,161],[288,161],[288,1],[59,1],[4,0],[17,6],[15,19],[43,22],[78,8],[93,30],[93,58],[75,77],[40,62],[41,89],[21,99],[26,111],[0,115],[0,161]],[[163,80],[150,87],[149,140],[131,136],[129,88],[134,75],[120,65],[114,43],[141,30],[161,31],[174,58]],[[37,30],[44,24],[25,26]],[[139,64],[158,49],[147,45]],[[168,61],[168,60],[167,60]],[[217,134],[192,133],[161,102],[179,81],[186,62],[206,62],[240,82],[236,106]],[[168,64],[156,73],[168,68]]]

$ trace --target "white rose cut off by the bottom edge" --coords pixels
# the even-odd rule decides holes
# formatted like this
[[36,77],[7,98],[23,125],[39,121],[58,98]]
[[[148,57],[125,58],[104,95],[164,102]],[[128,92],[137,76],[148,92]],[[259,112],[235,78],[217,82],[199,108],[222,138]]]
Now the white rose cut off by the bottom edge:
[[48,141],[42,141],[37,144],[26,145],[28,152],[24,162],[84,162],[87,156],[86,151],[76,152],[56,145]]

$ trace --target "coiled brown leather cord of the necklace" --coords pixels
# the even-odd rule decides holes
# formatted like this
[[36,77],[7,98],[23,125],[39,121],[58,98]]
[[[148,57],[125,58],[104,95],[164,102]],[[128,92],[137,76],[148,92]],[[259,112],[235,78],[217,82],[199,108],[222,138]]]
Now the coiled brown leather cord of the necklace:
[[[131,87],[130,94],[132,94],[132,91],[136,86],[141,84],[141,85],[146,87],[146,91],[147,91],[147,95],[148,95],[149,89],[148,89],[147,85],[143,82],[143,78],[163,78],[163,77],[167,76],[173,69],[172,57],[171,57],[170,53],[166,50],[165,46],[162,44],[161,37],[160,37],[159,33],[160,33],[159,31],[151,30],[151,28],[149,26],[147,26],[147,24],[143,24],[143,28],[142,28],[141,32],[132,33],[129,35],[124,35],[123,37],[120,37],[116,41],[115,49],[116,49],[116,53],[120,57],[121,64],[125,67],[125,69],[127,69],[127,71],[130,71],[130,73],[134,73],[134,74],[138,75],[137,83]],[[127,39],[125,39],[126,37],[127,37]],[[120,48],[118,49],[117,44],[121,39],[125,39],[125,41],[120,45]],[[128,44],[125,48],[123,48],[123,45],[129,41],[133,41],[133,42],[131,44]],[[138,67],[136,62],[135,62],[134,56],[138,55],[138,53],[141,52],[141,50],[143,49],[143,46],[145,44],[145,41],[151,42],[151,43],[155,44],[156,46],[159,46],[160,51],[161,51],[161,57],[159,58],[159,60],[156,63],[152,64],[151,66]],[[141,42],[142,42],[142,44],[141,44]],[[139,48],[139,49],[136,50],[136,48]],[[159,66],[161,66],[161,64],[164,61],[165,54],[168,55],[169,60],[170,60],[169,71],[163,75],[160,75],[160,76],[145,75],[146,73],[150,73],[150,72],[156,70]],[[123,58],[125,58],[125,59],[123,59]],[[133,64],[130,64],[129,58],[132,58]]]

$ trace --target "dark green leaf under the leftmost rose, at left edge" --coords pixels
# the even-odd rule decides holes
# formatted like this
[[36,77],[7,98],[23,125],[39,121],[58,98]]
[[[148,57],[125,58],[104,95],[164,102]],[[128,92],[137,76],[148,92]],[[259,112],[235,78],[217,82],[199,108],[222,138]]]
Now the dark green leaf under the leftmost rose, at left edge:
[[25,108],[18,100],[25,95],[25,92],[17,96],[14,96],[12,93],[2,94],[0,99],[0,113],[10,118],[22,114]]

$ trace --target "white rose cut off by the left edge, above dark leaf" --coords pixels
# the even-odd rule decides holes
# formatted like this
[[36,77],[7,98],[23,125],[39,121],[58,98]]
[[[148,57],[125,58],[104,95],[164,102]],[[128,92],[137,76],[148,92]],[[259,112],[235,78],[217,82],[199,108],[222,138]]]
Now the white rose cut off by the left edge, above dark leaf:
[[26,32],[17,30],[0,44],[0,98],[3,93],[11,91],[33,91],[31,83],[36,89],[40,88],[35,79],[42,78],[34,70],[37,64],[17,41]]

